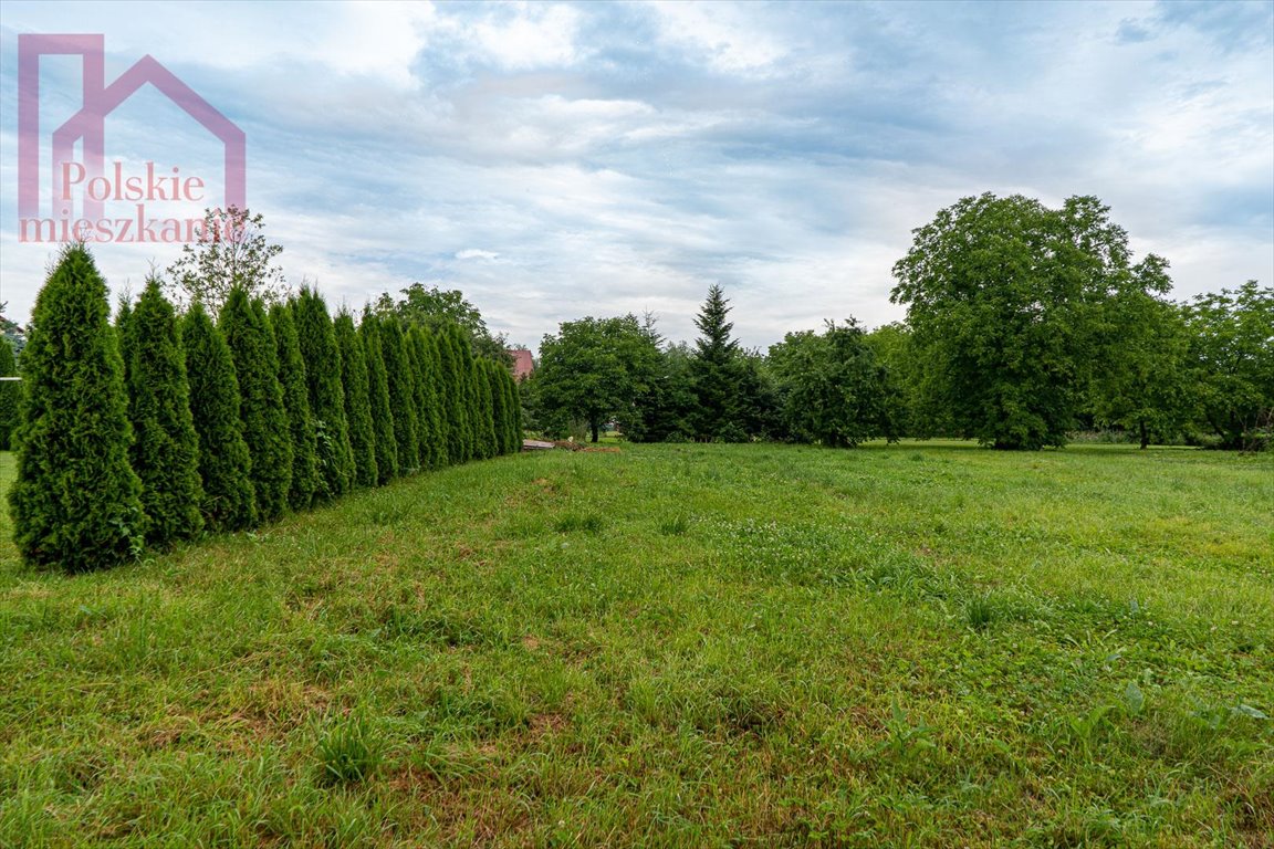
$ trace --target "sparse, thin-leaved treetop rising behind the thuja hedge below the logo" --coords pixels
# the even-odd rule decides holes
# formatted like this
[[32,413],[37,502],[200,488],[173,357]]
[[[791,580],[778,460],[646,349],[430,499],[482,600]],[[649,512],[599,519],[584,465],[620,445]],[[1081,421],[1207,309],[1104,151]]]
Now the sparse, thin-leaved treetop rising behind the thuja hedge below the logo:
[[181,303],[203,302],[218,313],[231,290],[242,286],[268,303],[287,298],[288,284],[275,260],[283,246],[265,238],[265,218],[246,209],[209,209],[204,234],[187,243],[168,266],[169,297]]

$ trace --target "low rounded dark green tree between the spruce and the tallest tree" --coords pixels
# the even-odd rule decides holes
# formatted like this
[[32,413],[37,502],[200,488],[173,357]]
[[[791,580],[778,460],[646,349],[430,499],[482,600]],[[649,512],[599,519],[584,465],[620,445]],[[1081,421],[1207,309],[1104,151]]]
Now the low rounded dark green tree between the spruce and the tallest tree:
[[794,438],[845,448],[896,435],[889,417],[893,388],[854,319],[843,326],[828,322],[823,335],[787,333],[771,346],[769,363]]

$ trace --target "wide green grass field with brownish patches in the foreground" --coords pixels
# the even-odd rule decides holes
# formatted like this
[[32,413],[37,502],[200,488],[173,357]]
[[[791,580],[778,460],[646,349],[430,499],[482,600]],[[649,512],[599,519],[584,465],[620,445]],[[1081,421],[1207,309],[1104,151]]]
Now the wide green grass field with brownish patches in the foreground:
[[536,452],[78,577],[0,526],[0,845],[1270,846],[1271,517],[1269,457],[907,443]]

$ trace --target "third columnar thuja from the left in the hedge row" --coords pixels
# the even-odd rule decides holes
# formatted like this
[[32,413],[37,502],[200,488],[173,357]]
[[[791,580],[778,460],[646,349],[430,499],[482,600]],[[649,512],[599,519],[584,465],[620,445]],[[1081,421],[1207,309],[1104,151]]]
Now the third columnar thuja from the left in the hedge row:
[[225,337],[197,300],[182,321],[190,381],[190,412],[199,434],[199,476],[204,481],[204,524],[241,531],[256,524],[252,460],[243,442],[238,379]]

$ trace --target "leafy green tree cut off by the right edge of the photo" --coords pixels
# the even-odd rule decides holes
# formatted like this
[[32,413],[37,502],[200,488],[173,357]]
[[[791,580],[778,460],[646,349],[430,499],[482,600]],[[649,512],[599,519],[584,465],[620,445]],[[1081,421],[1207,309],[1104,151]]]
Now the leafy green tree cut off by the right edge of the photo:
[[1274,430],[1274,288],[1249,280],[1199,295],[1182,314],[1199,416],[1222,447],[1260,447]]

